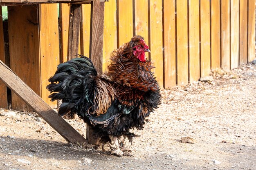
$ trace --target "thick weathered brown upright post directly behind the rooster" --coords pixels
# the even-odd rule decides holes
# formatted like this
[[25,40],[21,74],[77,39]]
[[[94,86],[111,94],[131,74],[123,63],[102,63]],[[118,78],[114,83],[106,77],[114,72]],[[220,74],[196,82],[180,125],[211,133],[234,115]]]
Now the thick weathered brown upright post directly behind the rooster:
[[[90,58],[98,73],[102,72],[104,28],[104,0],[94,0],[91,5]],[[90,126],[87,126],[86,139],[89,144],[98,145],[99,139],[93,136]]]

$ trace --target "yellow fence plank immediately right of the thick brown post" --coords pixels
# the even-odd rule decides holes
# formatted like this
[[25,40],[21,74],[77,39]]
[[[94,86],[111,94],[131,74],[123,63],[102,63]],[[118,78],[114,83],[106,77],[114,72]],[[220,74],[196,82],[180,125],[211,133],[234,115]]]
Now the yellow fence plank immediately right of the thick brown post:
[[103,37],[103,70],[108,68],[111,52],[117,49],[117,1],[105,3]]

